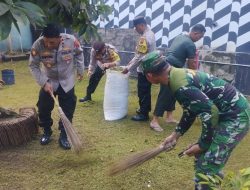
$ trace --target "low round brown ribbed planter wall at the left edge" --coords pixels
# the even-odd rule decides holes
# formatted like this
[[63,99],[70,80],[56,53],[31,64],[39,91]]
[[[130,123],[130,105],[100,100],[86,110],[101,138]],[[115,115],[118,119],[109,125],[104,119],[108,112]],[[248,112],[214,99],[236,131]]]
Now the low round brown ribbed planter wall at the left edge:
[[0,149],[27,143],[37,133],[38,117],[35,108],[20,108],[18,117],[0,120]]

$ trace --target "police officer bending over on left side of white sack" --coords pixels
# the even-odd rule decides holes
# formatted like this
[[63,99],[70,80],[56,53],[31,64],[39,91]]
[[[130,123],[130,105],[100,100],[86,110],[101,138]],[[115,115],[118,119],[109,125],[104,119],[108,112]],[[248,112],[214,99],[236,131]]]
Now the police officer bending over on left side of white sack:
[[86,96],[79,99],[79,102],[92,100],[91,94],[95,92],[106,69],[115,67],[120,64],[120,56],[114,46],[104,43],[95,42],[90,52],[90,64],[88,68],[89,85]]

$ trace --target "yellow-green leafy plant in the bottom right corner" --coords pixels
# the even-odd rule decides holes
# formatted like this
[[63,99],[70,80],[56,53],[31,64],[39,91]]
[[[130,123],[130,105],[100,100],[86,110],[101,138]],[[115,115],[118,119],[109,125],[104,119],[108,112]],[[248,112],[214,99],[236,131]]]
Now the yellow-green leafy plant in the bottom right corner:
[[221,177],[208,176],[199,173],[200,184],[208,185],[212,190],[250,190],[250,167],[238,173],[229,172],[222,180]]

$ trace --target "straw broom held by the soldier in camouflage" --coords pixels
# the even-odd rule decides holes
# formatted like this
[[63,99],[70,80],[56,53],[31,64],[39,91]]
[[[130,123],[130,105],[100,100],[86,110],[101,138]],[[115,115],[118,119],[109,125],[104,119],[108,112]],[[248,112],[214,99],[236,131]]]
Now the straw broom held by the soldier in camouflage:
[[146,162],[147,160],[150,160],[160,154],[163,151],[170,151],[174,148],[174,144],[169,144],[167,146],[160,145],[159,147],[146,150],[143,152],[136,153],[134,155],[131,155],[124,160],[117,162],[111,166],[111,169],[109,171],[109,175],[116,175],[118,173],[121,173],[122,171],[125,171],[129,168],[139,166]]

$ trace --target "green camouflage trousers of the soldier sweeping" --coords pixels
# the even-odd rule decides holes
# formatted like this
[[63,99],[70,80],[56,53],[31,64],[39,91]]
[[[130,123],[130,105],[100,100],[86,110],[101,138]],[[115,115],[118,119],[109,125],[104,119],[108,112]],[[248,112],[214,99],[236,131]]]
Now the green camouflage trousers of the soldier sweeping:
[[196,182],[199,182],[198,173],[220,176],[231,152],[247,134],[250,125],[250,110],[242,111],[235,118],[219,121],[209,149],[199,155],[195,161]]

